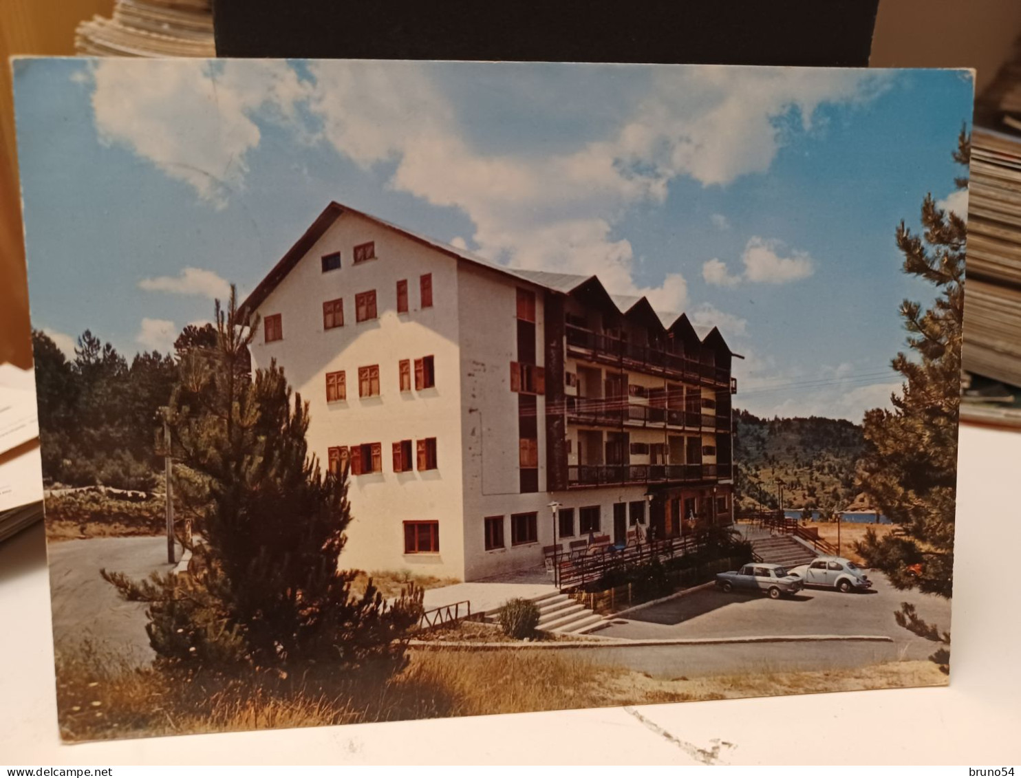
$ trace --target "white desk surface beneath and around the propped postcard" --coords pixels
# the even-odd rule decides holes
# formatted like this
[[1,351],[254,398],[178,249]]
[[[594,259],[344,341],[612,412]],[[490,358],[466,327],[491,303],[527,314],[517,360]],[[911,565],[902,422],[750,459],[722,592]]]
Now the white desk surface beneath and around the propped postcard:
[[[0,762],[1016,764],[1021,434],[961,432],[949,688],[682,702],[62,745],[41,527],[0,545]],[[777,722],[787,722],[783,727]],[[792,724],[792,726],[791,726]],[[428,743],[428,747],[423,747]]]

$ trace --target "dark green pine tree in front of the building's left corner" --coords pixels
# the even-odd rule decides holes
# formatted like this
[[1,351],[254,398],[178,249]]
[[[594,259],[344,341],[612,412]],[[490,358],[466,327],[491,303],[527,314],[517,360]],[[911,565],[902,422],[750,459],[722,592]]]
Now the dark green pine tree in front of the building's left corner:
[[392,604],[372,582],[351,593],[353,573],[338,567],[351,521],[346,466],[324,474],[308,455],[308,404],[292,398],[282,369],[249,376],[257,322],[240,320],[233,290],[215,321],[216,345],[182,355],[168,408],[175,457],[205,492],[188,572],[142,582],[103,576],[127,599],[148,603],[150,643],[169,666],[312,662],[393,672],[421,592]]

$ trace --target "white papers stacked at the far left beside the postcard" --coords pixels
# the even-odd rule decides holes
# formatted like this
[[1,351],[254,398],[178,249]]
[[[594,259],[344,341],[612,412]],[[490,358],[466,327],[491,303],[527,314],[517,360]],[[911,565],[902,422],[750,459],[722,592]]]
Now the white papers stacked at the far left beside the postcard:
[[0,364],[0,540],[41,519],[42,499],[35,376]]

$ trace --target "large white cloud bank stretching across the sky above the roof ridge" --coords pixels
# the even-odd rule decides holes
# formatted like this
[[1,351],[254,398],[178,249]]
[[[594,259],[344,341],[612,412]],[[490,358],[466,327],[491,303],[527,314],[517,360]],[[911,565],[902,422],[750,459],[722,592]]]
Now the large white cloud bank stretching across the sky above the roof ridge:
[[[393,189],[466,213],[484,255],[594,273],[614,292],[647,293],[673,309],[686,302],[682,276],[648,289],[633,281],[632,246],[615,234],[628,210],[663,202],[680,177],[711,186],[767,172],[797,125],[811,130],[820,105],[864,103],[888,78],[835,68],[657,67],[647,94],[629,101],[628,114],[602,139],[499,154],[466,139],[430,65],[319,61],[307,70],[310,80],[286,62],[128,67],[101,60],[93,71],[96,127],[105,141],[128,146],[220,207],[244,186],[248,152],[260,141],[258,111],[363,168],[392,165]],[[714,222],[722,228],[726,220]],[[749,280],[804,277],[804,257],[770,250],[756,254]],[[727,283],[728,276],[716,278]]]

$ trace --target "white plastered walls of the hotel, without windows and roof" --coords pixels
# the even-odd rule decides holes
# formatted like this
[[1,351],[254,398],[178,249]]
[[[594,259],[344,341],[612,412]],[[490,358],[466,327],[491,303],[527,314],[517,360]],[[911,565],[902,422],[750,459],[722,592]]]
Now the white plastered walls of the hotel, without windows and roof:
[[[251,347],[254,368],[276,360],[295,392],[309,402],[309,452],[327,466],[332,447],[379,444],[380,472],[351,475],[349,500],[353,521],[341,561],[345,568],[366,571],[408,570],[415,573],[473,580],[512,569],[541,564],[542,547],[582,535],[578,508],[599,505],[600,532],[612,534],[614,503],[646,500],[643,485],[565,488],[550,492],[555,479],[548,472],[547,400],[553,392],[533,395],[536,405],[538,491],[522,493],[520,480],[519,393],[512,390],[510,363],[519,358],[517,318],[519,289],[536,295],[534,363],[544,368],[547,345],[541,284],[515,277],[455,249],[434,244],[366,214],[332,204],[312,234],[306,234],[281,265],[268,276],[246,306],[265,322],[281,317],[282,338],[265,342],[266,328]],[[313,226],[314,227],[314,226]],[[311,232],[311,231],[310,231]],[[375,258],[355,263],[353,248],[372,242]],[[324,270],[322,257],[340,253],[340,268]],[[283,265],[283,268],[282,268]],[[433,304],[423,307],[420,280],[432,280]],[[397,310],[397,284],[407,283],[407,311]],[[356,322],[355,295],[376,292],[377,317]],[[324,303],[343,300],[343,326],[325,328]],[[435,386],[401,391],[399,362],[431,356]],[[592,396],[601,386],[602,368],[577,358],[564,359],[567,372],[590,377],[563,393]],[[378,366],[379,394],[359,396],[358,370]],[[327,400],[327,374],[343,371],[346,398]],[[598,382],[596,375],[598,372]],[[563,375],[546,374],[548,382]],[[664,379],[634,374],[631,383],[649,388]],[[586,394],[589,392],[589,394]],[[635,398],[641,403],[642,398]],[[562,400],[563,402],[563,400]],[[563,404],[560,407],[563,412]],[[524,412],[524,411],[523,411]],[[713,412],[707,410],[706,412]],[[563,437],[571,441],[561,472],[579,464],[579,425],[568,424]],[[589,430],[595,440],[596,428]],[[632,442],[665,441],[674,433],[634,430]],[[677,433],[681,435],[681,433]],[[706,445],[716,432],[695,431]],[[435,468],[420,469],[418,441],[435,438]],[[603,439],[600,433],[599,440]],[[412,467],[395,472],[393,444],[411,441]],[[600,443],[601,445],[601,443]],[[632,464],[649,461],[636,455]],[[715,461],[707,456],[702,461]],[[575,508],[575,534],[560,537],[547,506],[551,501]],[[534,540],[515,543],[512,517],[535,513]],[[502,546],[487,549],[486,517],[501,517]],[[491,520],[491,524],[496,521]],[[526,527],[530,520],[519,519]],[[648,516],[646,513],[646,523]],[[435,522],[438,549],[405,543],[405,523]],[[419,525],[414,525],[419,527]],[[431,538],[432,530],[423,529]],[[517,539],[525,537],[519,533]],[[419,541],[416,541],[418,543]],[[412,546],[416,545],[412,543]]]

